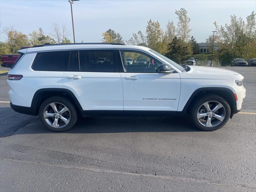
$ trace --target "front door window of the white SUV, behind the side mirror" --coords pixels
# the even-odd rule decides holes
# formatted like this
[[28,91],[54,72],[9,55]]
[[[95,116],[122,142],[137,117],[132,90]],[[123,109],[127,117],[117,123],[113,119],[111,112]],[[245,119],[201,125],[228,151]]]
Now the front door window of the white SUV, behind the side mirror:
[[162,64],[152,56],[133,50],[120,50],[124,72],[130,73],[156,73]]

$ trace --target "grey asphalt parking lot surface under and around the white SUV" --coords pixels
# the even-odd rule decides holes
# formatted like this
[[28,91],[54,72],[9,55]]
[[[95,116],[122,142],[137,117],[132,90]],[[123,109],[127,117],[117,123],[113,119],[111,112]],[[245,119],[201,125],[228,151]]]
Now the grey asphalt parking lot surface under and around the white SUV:
[[10,108],[0,76],[0,191],[256,191],[256,67],[242,113],[214,132],[186,116],[94,117],[53,133]]

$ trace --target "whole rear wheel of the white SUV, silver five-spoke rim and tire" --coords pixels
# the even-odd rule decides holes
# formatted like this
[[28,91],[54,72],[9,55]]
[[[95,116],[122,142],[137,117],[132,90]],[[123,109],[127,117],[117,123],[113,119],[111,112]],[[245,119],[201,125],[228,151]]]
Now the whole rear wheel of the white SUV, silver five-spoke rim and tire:
[[77,113],[66,98],[54,96],[42,102],[39,108],[39,118],[48,129],[61,132],[74,126],[77,121]]

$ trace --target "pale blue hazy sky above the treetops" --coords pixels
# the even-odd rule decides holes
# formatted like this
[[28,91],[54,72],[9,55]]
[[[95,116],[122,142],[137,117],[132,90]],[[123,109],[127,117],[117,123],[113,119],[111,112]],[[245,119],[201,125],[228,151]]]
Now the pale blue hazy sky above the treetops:
[[[119,32],[124,40],[132,33],[146,31],[148,20],[160,22],[165,30],[168,20],[177,23],[175,10],[185,8],[190,17],[190,32],[197,42],[205,42],[218,25],[230,23],[235,14],[246,20],[256,11],[256,0],[80,0],[73,4],[76,42],[101,42],[108,29]],[[50,34],[52,23],[65,25],[72,38],[72,20],[68,0],[0,0],[0,24],[14,25],[24,34],[42,27]],[[0,41],[6,36],[1,33]]]

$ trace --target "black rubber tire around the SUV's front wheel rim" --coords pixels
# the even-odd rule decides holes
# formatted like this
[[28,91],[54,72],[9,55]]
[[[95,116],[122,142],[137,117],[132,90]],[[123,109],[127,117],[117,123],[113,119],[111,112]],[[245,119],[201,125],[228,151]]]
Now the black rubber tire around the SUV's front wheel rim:
[[[197,115],[198,115],[198,110],[199,110],[200,106],[202,106],[205,102],[210,102],[210,101],[216,101],[216,102],[219,102],[220,104],[222,104],[222,106],[224,108],[225,116],[224,116],[224,119],[222,120],[222,122],[220,122],[220,124],[218,124],[216,126],[212,126],[212,127],[207,127],[205,125],[202,125],[199,122]],[[229,106],[228,102],[224,98],[222,98],[218,95],[215,95],[215,94],[206,94],[202,98],[200,98],[198,100],[194,100],[194,102],[195,103],[192,104],[192,106],[190,107],[190,112],[189,112],[190,119],[193,122],[193,124],[200,130],[203,130],[203,131],[218,130],[218,129],[222,128],[222,126],[224,126],[228,122],[228,119],[230,118],[231,111],[230,111],[230,106]],[[215,114],[215,116],[216,116],[216,114]],[[210,116],[210,118],[212,118],[213,120],[218,122],[218,120],[213,117],[214,116],[212,116],[212,117]],[[208,118],[209,118],[209,116],[206,116],[206,119],[208,119]]]

